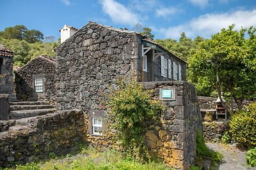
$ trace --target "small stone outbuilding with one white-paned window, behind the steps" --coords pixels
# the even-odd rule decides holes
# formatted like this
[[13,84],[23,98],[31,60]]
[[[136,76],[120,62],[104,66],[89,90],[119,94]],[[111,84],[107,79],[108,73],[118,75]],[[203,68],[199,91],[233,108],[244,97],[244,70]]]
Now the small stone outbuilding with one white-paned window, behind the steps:
[[52,57],[38,56],[15,72],[17,99],[24,101],[55,100],[54,77],[56,61]]

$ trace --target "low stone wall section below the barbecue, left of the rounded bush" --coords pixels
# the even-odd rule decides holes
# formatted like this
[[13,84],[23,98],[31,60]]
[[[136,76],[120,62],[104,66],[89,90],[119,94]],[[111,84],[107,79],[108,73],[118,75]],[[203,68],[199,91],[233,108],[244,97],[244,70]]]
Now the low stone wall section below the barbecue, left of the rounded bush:
[[225,131],[228,131],[228,121],[203,122],[204,139],[207,142],[219,143]]

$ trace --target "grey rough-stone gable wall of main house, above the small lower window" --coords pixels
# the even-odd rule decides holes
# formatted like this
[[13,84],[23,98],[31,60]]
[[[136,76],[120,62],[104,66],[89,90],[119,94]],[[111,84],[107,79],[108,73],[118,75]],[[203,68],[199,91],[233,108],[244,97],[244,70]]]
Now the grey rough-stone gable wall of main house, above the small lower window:
[[137,34],[90,22],[56,48],[58,110],[101,110],[116,78],[133,75]]

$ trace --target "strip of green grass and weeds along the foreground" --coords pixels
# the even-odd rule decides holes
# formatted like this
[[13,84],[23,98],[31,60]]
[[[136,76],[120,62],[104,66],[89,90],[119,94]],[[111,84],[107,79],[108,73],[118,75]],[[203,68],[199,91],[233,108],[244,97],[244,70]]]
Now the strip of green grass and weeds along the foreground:
[[51,159],[38,164],[6,168],[4,170],[167,170],[164,163],[148,162],[141,164],[129,158],[124,158],[115,150],[100,151],[97,148],[83,148],[81,153],[73,156],[68,154],[63,159]]

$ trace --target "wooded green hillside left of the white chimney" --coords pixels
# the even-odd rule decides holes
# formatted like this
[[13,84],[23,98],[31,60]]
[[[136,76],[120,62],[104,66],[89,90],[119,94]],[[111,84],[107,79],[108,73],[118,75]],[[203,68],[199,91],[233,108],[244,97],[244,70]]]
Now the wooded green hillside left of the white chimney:
[[14,65],[21,67],[38,55],[54,57],[52,50],[60,41],[54,41],[53,36],[44,38],[42,32],[28,30],[24,25],[16,25],[0,31],[0,44],[14,52]]

